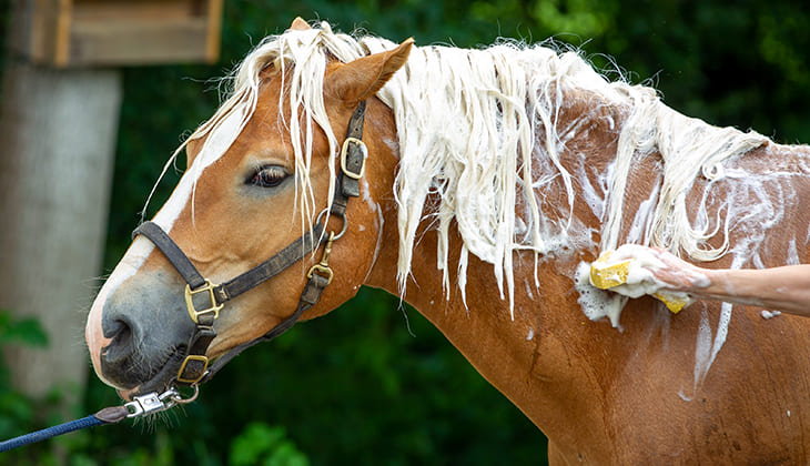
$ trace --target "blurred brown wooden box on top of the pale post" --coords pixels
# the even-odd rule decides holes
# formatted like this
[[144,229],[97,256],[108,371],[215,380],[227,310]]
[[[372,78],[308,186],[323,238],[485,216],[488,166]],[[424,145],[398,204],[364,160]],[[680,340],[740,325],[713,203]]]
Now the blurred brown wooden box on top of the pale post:
[[30,0],[14,48],[57,68],[215,62],[222,0]]

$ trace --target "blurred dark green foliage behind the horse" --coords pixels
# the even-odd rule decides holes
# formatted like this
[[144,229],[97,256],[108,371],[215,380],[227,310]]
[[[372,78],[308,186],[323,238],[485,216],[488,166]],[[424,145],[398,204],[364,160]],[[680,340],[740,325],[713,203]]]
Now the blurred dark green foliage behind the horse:
[[[215,110],[212,79],[296,16],[394,41],[480,47],[499,37],[554,37],[598,69],[660,90],[665,102],[713,124],[779,142],[810,141],[810,10],[789,1],[697,0],[226,0],[215,65],[124,71],[105,272],[129,244],[164,161]],[[161,185],[159,206],[178,180]],[[153,214],[154,210],[150,214]],[[31,323],[0,315],[0,344],[45,344]],[[0,377],[7,374],[0,373]],[[0,379],[0,432],[52,401]],[[118,403],[90,375],[78,414]],[[41,416],[40,416],[41,417]],[[0,459],[72,465],[545,464],[543,434],[492,388],[418,313],[374,290],[236,358],[200,399],[148,425],[80,433]],[[3,430],[6,429],[6,430]]]

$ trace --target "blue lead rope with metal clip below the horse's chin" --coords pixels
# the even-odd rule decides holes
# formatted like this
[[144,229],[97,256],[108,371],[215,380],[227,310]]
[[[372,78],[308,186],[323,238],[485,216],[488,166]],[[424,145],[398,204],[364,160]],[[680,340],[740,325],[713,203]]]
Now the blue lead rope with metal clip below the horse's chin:
[[70,421],[68,423],[47,427],[41,430],[32,432],[30,434],[20,435],[19,437],[0,442],[0,453],[30,445],[37,442],[47,440],[58,435],[69,434],[71,432],[80,430],[83,428],[95,427],[107,424],[118,424],[126,418],[142,417],[150,414],[160,413],[176,405],[191,403],[196,399],[196,396],[199,394],[200,387],[194,386],[194,393],[188,398],[183,398],[180,392],[178,392],[178,389],[174,387],[169,388],[160,395],[155,392],[149,393],[146,395],[135,396],[132,398],[131,402],[124,403],[121,406],[105,407],[104,409],[101,409],[100,412],[90,416],[82,417],[81,419]]

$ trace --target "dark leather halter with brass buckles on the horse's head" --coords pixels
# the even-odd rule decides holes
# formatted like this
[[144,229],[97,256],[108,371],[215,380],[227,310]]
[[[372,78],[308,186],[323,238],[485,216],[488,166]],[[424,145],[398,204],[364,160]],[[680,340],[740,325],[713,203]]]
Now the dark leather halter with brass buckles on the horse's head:
[[[365,171],[365,159],[367,155],[366,146],[362,141],[364,118],[365,101],[357,105],[348,121],[346,140],[341,149],[341,170],[337,172],[337,183],[332,207],[321,212],[315,225],[303,236],[288,244],[269,260],[233,280],[215,285],[210,280],[204,278],[174,240],[154,222],[145,222],[132,232],[133,237],[140,234],[152,241],[186,282],[185,305],[189,316],[194,321],[195,328],[185,347],[184,359],[174,382],[180,385],[191,386],[207,381],[242,351],[259,342],[273,340],[287,331],[295,324],[304,311],[317,303],[321,293],[332,282],[333,272],[328,266],[328,255],[332,250],[332,242],[340,239],[346,231],[346,204],[350,197],[360,196],[360,179]],[[324,223],[322,222],[324,215],[341,217],[343,229],[340,233],[335,234],[331,232],[324,234]],[[308,280],[304,286],[304,291],[301,293],[295,312],[266,334],[231,350],[217,358],[209,368],[210,361],[205,356],[205,352],[216,336],[214,321],[220,316],[220,311],[224,304],[301,261],[307,254],[317,250],[324,242],[326,246],[324,247],[323,259],[307,272],[306,276]],[[202,298],[205,298],[202,305],[207,307],[199,308],[198,305],[201,304],[200,301]]]

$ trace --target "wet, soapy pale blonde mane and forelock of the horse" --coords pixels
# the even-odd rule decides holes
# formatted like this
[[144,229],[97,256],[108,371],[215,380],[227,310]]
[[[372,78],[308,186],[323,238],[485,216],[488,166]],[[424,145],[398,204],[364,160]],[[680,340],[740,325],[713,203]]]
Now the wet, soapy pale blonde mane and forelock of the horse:
[[[191,135],[215,135],[205,141],[202,153],[206,155],[192,170],[203,170],[236,139],[255,110],[261,71],[274,64],[288,85],[279,105],[292,111],[286,124],[294,148],[297,203],[302,219],[311,222],[317,211],[308,178],[315,125],[326,134],[331,156],[337,153],[337,139],[323,100],[326,63],[332,59],[348,62],[395,45],[372,36],[336,33],[325,22],[311,30],[266,38],[240,64],[230,98]],[[421,47],[412,50],[406,65],[377,93],[393,110],[397,126],[401,160],[394,195],[399,207],[402,290],[411,272],[417,225],[431,195],[438,199],[429,212],[439,234],[437,257],[445,288],[450,286],[448,231],[455,220],[463,239],[457,271],[462,293],[472,253],[493,264],[502,297],[508,296],[513,305],[513,252],[548,255],[559,246],[558,237],[568,237],[576,226],[575,182],[559,156],[565,142],[558,115],[567,90],[585,90],[629,109],[619,133],[607,199],[603,200],[601,249],[615,249],[620,241],[626,180],[634,154],[658,151],[664,160],[664,184],[648,234],[641,241],[682,249],[699,260],[717,259],[726,252],[728,242],[720,249],[707,249],[705,240],[712,232],[708,225],[691,225],[686,194],[696,176],[720,176],[722,161],[761,145],[765,136],[682,116],[664,105],[654,89],[610,82],[573,51],[558,53],[512,42],[482,50]],[[670,163],[674,161],[677,163]],[[334,165],[330,163],[330,170]],[[540,214],[545,200],[535,190],[543,180],[536,179],[535,165],[548,169],[543,176],[561,180],[568,200],[567,221]],[[518,204],[524,207],[522,214],[516,214]]]

